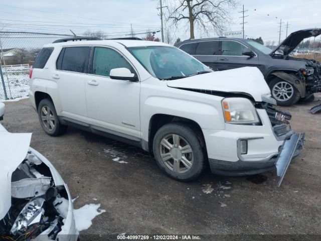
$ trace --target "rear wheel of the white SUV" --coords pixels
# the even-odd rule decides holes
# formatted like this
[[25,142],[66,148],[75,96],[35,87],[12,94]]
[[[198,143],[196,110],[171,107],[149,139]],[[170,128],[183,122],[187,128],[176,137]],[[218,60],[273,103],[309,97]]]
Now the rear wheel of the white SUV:
[[38,106],[39,121],[44,131],[53,137],[62,135],[68,126],[61,125],[54,104],[49,99],[43,99]]

